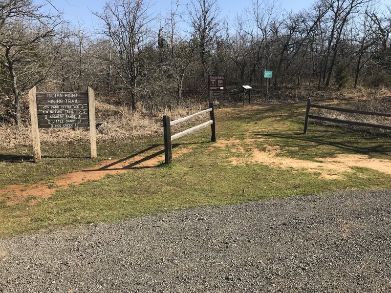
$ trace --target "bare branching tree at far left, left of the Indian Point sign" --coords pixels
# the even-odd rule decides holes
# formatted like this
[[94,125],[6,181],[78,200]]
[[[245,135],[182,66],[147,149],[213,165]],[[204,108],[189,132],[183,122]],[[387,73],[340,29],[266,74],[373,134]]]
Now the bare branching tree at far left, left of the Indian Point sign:
[[0,64],[2,76],[14,97],[13,116],[21,124],[21,98],[33,85],[42,83],[49,67],[42,48],[57,35],[63,21],[59,15],[43,11],[33,0],[0,0]]

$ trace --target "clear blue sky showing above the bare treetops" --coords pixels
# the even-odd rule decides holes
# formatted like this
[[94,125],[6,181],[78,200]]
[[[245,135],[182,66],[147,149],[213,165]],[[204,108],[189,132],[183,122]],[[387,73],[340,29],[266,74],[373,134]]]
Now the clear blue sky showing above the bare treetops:
[[[77,25],[78,21],[86,29],[91,29],[96,25],[96,18],[90,11],[100,12],[106,3],[106,0],[49,0],[57,9],[64,12],[65,20],[71,21]],[[309,7],[315,0],[281,0],[282,9],[288,11],[299,11]],[[37,3],[44,3],[46,0],[35,0]],[[181,0],[181,4],[186,4],[190,0]],[[222,16],[235,16],[241,13],[245,8],[250,9],[252,0],[216,0],[220,7]],[[151,0],[152,11],[156,14],[165,15],[170,10],[171,0]]]

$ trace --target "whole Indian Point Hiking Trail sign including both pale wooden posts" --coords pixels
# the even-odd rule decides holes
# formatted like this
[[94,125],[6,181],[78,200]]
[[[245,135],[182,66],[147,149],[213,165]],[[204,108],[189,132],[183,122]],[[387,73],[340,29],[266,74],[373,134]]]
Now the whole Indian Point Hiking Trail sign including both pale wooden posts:
[[95,93],[41,92],[35,86],[29,91],[34,160],[41,162],[39,128],[89,127],[91,158],[96,158]]

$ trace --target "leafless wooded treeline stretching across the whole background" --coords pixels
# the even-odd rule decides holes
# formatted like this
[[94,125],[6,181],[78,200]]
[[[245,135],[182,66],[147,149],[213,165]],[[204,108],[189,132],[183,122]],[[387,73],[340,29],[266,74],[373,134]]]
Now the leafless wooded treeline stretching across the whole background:
[[153,15],[147,0],[108,0],[94,13],[93,34],[75,28],[51,5],[0,0],[2,121],[21,123],[22,96],[85,90],[156,107],[206,100],[209,74],[228,86],[272,84],[386,85],[391,74],[391,9],[376,0],[317,0],[281,11],[273,0],[222,18],[214,0],[179,0]]

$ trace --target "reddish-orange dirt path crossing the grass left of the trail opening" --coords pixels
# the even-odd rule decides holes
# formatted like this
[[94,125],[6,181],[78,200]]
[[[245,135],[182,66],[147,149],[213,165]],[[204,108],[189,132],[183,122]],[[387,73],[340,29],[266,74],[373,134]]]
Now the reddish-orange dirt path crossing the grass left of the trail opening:
[[[192,147],[187,146],[181,149],[173,147],[173,157],[177,158],[190,152]],[[0,200],[4,200],[8,205],[14,205],[32,196],[34,199],[29,204],[35,205],[39,199],[52,196],[58,189],[66,189],[69,186],[77,186],[87,181],[99,180],[107,174],[121,174],[139,168],[157,167],[164,162],[164,149],[160,148],[160,145],[153,145],[123,159],[106,160],[93,169],[84,169],[61,175],[54,179],[54,183],[39,182],[27,188],[23,185],[11,185],[6,189],[0,189]]]

